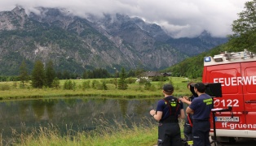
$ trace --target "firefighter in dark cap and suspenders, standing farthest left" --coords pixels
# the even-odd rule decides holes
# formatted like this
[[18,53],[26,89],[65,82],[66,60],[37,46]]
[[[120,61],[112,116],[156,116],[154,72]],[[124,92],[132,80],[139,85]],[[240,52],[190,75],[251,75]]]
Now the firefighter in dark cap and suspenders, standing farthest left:
[[165,84],[162,88],[164,98],[157,102],[157,110],[150,114],[158,122],[158,146],[180,146],[180,127],[178,118],[184,118],[183,103],[173,97],[174,87]]

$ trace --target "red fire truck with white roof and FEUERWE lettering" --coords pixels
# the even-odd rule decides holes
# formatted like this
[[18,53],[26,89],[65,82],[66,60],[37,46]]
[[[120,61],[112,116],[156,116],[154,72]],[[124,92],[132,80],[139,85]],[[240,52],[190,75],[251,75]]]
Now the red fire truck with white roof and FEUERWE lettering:
[[[214,97],[214,108],[232,107],[232,112],[215,114],[217,140],[235,142],[237,138],[256,138],[255,54],[245,49],[205,57],[202,82],[221,84],[222,97]],[[213,131],[212,122],[212,136]]]

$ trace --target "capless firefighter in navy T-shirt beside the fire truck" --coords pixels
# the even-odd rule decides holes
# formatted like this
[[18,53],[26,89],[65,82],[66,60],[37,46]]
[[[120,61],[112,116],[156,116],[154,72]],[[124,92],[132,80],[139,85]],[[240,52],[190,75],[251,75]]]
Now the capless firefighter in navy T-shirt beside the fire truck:
[[213,108],[213,99],[205,94],[205,89],[205,84],[194,85],[198,97],[194,98],[186,110],[187,114],[193,114],[193,146],[210,146],[210,112]]

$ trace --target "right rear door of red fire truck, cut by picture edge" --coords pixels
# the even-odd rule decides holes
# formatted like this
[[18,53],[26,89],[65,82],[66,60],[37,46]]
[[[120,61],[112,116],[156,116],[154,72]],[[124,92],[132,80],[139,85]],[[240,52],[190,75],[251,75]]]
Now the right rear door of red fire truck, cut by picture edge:
[[250,130],[256,128],[256,62],[242,62],[241,74],[243,79],[243,92],[245,104],[246,127]]

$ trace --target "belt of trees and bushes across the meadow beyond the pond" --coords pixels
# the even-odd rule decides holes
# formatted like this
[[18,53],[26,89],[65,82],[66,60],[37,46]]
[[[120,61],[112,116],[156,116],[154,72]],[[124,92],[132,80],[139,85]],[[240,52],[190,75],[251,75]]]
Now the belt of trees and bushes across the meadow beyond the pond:
[[[64,74],[62,75],[62,78],[65,78],[65,82],[62,88],[66,90],[76,90],[77,88],[82,88],[82,90],[86,90],[86,88],[95,88],[99,90],[108,90],[107,84],[114,84],[116,88],[120,90],[126,90],[128,88],[128,84],[134,84],[136,79],[132,78],[135,75],[141,75],[143,70],[137,69],[136,71],[129,71],[126,72],[126,70],[122,67],[121,71],[115,71],[115,73],[112,75],[108,73],[107,70],[99,68],[95,69],[93,71],[84,71],[84,73],[81,76],[73,75],[73,77],[78,77],[78,79],[88,79],[84,80],[82,84],[79,84],[77,86],[75,81],[72,81],[70,77],[72,75],[68,75],[66,71],[64,71]],[[30,85],[27,88],[56,88],[59,89],[60,87],[60,79],[58,78],[58,74],[56,73],[54,69],[53,62],[50,60],[46,62],[44,65],[42,61],[37,60],[34,63],[33,71],[31,75],[28,73],[28,69],[26,67],[26,63],[23,61],[20,65],[20,75],[16,77],[1,77],[2,81],[7,81],[7,79],[10,79],[12,81],[20,81],[20,88],[25,88],[25,86]],[[139,76],[138,76],[139,77]],[[97,78],[97,79],[95,79]],[[102,78],[101,80],[98,80]],[[106,79],[111,78],[111,79]],[[77,78],[76,78],[77,79]],[[91,80],[93,79],[93,80]],[[161,80],[166,81],[169,80],[168,77],[158,77],[154,80]],[[91,81],[91,83],[90,83]],[[171,81],[170,81],[171,82]],[[161,85],[163,82],[161,82]],[[156,90],[156,87],[150,83],[148,79],[139,79],[139,88],[143,87],[146,90]],[[16,88],[17,83],[13,82],[13,86]],[[9,85],[0,86],[0,90],[9,90]]]

